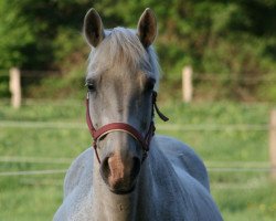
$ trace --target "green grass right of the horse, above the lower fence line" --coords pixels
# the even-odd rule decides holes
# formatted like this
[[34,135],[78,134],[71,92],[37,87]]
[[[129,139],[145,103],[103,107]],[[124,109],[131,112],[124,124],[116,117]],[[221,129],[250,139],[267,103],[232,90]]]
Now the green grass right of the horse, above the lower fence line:
[[[202,125],[200,130],[162,130],[189,144],[208,161],[266,161],[267,130],[235,130],[229,125],[267,125],[272,105],[212,103],[164,107],[170,114],[169,124],[182,128]],[[212,125],[222,125],[212,130]],[[211,130],[210,130],[211,129]]]

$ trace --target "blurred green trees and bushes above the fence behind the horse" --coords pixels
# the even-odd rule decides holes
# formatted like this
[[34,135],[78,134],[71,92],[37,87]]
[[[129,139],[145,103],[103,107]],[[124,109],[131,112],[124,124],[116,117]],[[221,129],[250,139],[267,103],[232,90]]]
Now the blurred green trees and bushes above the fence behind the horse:
[[[273,0],[0,0],[0,69],[68,72],[84,64],[88,48],[81,32],[91,7],[99,11],[106,28],[136,28],[145,8],[155,10],[159,24],[156,48],[170,88],[179,84],[185,64],[200,75],[237,78],[263,77],[276,67]],[[265,93],[258,84],[246,93],[243,87],[237,81],[217,90],[224,97],[238,99],[246,93],[263,99],[276,96],[272,86]]]

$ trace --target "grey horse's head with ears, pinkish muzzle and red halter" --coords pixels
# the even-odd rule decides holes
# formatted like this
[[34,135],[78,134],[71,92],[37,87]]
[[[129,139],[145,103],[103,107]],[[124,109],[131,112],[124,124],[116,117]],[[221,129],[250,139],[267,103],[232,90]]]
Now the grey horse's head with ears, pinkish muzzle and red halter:
[[86,76],[87,120],[100,176],[113,192],[127,193],[135,188],[153,134],[159,76],[151,46],[157,35],[156,17],[146,9],[137,30],[105,30],[99,14],[91,9],[84,34],[92,48]]

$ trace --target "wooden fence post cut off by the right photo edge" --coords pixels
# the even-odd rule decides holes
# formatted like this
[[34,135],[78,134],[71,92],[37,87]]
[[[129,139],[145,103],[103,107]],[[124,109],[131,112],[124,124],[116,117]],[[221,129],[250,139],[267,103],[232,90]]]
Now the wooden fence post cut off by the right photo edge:
[[276,178],[276,109],[273,109],[270,113],[269,155],[270,155],[272,177]]

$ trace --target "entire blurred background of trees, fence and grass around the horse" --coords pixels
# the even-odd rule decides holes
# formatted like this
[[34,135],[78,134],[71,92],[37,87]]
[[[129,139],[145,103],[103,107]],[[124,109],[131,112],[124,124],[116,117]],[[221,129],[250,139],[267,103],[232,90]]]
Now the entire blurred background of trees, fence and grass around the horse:
[[51,220],[89,147],[83,19],[158,19],[159,106],[204,160],[225,220],[276,218],[275,0],[0,0],[0,220]]

